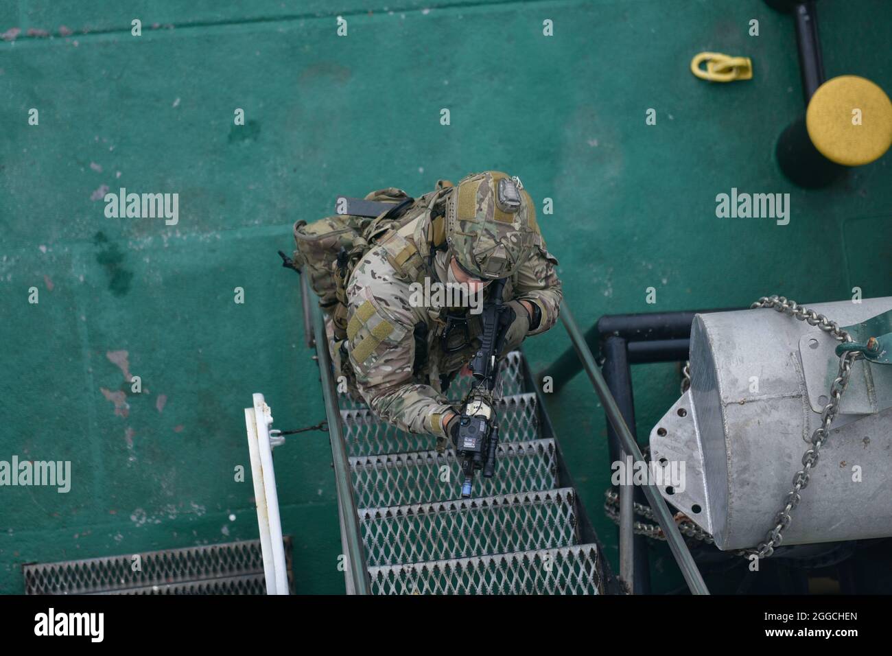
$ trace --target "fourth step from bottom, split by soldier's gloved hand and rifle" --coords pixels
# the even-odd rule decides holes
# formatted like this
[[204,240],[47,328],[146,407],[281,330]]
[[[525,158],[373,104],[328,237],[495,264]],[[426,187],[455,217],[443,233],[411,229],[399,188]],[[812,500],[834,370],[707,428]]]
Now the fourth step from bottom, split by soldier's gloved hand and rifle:
[[[504,397],[496,405],[496,414],[501,442],[525,442],[539,436],[535,394]],[[436,444],[434,436],[405,433],[377,419],[367,408],[342,410],[341,418],[349,455],[427,451]]]

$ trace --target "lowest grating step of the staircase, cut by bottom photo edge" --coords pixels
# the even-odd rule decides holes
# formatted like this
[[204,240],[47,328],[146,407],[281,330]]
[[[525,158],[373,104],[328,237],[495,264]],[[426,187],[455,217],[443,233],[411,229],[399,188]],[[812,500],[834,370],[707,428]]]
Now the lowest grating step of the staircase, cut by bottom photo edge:
[[599,594],[594,544],[368,568],[373,594]]

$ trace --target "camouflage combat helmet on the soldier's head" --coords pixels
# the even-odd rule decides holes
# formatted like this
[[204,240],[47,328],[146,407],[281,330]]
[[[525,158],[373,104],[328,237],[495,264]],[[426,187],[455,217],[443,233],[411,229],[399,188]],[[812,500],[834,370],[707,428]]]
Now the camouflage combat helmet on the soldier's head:
[[533,199],[518,178],[472,173],[446,200],[446,243],[475,278],[508,278],[539,234]]

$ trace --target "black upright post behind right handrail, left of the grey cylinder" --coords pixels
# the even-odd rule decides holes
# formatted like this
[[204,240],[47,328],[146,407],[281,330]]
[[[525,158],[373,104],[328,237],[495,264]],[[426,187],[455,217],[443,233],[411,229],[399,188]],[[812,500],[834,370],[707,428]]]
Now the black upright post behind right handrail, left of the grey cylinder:
[[[607,337],[602,349],[604,353],[604,365],[601,371],[607,388],[616,401],[616,406],[625,419],[632,436],[638,439],[635,431],[635,402],[632,397],[632,369],[626,353],[626,341],[623,337]],[[610,452],[610,461],[616,462],[622,459],[623,448],[620,445],[619,436],[613,426],[607,421],[607,446]],[[646,503],[644,493],[640,487],[635,486],[634,500]],[[634,538],[634,564],[633,564],[633,594],[650,593],[650,565],[648,562],[648,541],[644,536]]]

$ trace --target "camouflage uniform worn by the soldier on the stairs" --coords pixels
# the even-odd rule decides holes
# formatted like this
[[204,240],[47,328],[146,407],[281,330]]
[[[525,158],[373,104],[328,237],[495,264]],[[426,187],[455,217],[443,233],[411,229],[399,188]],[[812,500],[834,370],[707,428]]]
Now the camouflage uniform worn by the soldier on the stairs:
[[[489,172],[479,175],[489,175]],[[467,186],[462,189],[464,193]],[[425,278],[429,283],[446,282],[454,245],[450,243],[450,248],[442,244],[442,232],[439,236],[436,233],[442,230],[443,220],[454,220],[456,203],[464,203],[466,211],[491,214],[492,203],[487,203],[485,198],[489,189],[481,184],[472,188],[470,194],[458,197],[454,187],[442,188],[418,199],[402,227],[392,230],[359,261],[347,285],[348,351],[359,393],[378,417],[402,430],[426,433],[442,440],[442,415],[456,410],[456,403],[450,403],[442,393],[442,382],[454,377],[475,353],[481,332],[479,315],[470,313],[467,307],[450,310],[435,303],[415,306],[409,300],[417,287],[411,285],[414,282],[424,286]],[[529,248],[524,253],[524,261],[515,262],[503,299],[535,303],[541,311],[541,320],[535,329],[524,334],[519,333],[528,324],[525,320],[516,321],[508,331],[506,353],[520,345],[527,334],[535,335],[551,328],[558,319],[562,298],[561,283],[555,272],[558,261],[546,250],[535,222],[532,200],[529,195],[526,199],[529,210],[509,216],[508,222],[526,222],[524,230],[511,235],[528,239]],[[471,203],[475,207],[468,210]],[[440,216],[443,220],[434,220]],[[530,229],[525,229],[526,226]],[[498,256],[498,244],[493,249],[485,237],[475,239],[475,250],[489,253],[494,250]],[[437,241],[442,244],[440,249],[432,245]],[[471,339],[457,353],[447,353],[442,345],[447,311],[463,313],[468,319]]]

